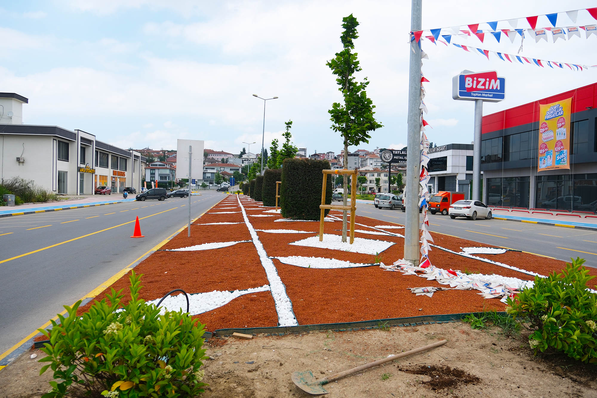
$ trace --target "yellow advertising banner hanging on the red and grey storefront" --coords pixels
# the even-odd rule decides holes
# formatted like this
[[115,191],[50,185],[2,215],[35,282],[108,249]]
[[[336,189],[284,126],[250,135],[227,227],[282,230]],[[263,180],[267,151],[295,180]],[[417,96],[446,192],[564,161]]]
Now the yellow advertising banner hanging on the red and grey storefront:
[[572,98],[539,105],[538,172],[570,169],[571,105]]

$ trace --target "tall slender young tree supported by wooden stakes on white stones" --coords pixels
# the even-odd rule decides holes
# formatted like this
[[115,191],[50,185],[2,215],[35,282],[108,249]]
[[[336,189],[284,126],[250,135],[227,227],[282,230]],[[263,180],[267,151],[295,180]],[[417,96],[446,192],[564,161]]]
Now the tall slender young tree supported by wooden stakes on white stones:
[[[336,75],[336,82],[340,86],[338,91],[342,93],[344,103],[334,102],[332,109],[328,112],[331,115],[331,128],[340,133],[344,140],[344,164],[348,164],[348,146],[359,145],[362,142],[369,142],[371,136],[369,131],[383,127],[377,123],[374,118],[373,101],[367,97],[367,85],[369,84],[365,77],[362,82],[355,80],[356,72],[362,71],[356,53],[352,53],[355,48],[353,40],[358,38],[356,27],[359,23],[356,18],[350,14],[342,19],[344,32],[340,35],[343,50],[336,53],[336,57],[326,65]],[[344,201],[346,206],[348,198],[348,176],[344,174]],[[342,241],[346,242],[346,221],[347,212],[343,210],[342,215]]]

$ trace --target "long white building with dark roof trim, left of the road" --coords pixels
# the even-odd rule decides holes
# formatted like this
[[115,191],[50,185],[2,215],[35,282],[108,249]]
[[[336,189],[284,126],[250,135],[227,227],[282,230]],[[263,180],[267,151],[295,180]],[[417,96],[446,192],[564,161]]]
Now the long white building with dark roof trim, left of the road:
[[15,93],[0,93],[0,180],[22,177],[57,194],[139,190],[146,159],[139,152],[101,142],[82,130],[23,124],[23,104]]

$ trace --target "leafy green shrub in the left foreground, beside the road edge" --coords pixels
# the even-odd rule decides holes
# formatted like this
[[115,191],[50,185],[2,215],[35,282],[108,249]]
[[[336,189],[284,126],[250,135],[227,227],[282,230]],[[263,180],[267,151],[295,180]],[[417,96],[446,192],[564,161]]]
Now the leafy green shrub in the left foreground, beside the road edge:
[[130,280],[131,301],[123,311],[116,312],[122,290],[112,289],[109,304],[96,301],[78,317],[79,300],[64,306],[67,316],[52,320],[51,330],[39,329],[50,338],[42,348],[48,356],[39,360],[50,363],[40,374],[51,368],[56,379],[42,398],[187,397],[204,391],[199,368],[205,325],[182,311],[159,315],[154,304],[139,299],[140,276],[133,271]]

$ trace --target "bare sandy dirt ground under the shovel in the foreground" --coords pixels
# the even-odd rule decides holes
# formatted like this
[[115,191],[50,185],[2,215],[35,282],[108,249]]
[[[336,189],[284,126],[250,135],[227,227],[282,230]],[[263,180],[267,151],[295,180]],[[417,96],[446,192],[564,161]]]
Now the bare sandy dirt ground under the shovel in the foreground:
[[[307,397],[291,381],[294,371],[321,379],[390,354],[447,339],[424,353],[368,369],[326,386],[327,397],[596,397],[597,366],[562,356],[534,357],[524,333],[473,330],[446,323],[356,332],[312,332],[214,338],[205,361],[203,397]],[[31,351],[43,355],[41,351]],[[51,373],[30,353],[0,372],[0,397],[39,397]]]

